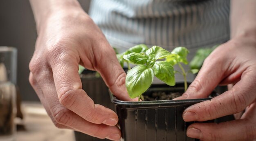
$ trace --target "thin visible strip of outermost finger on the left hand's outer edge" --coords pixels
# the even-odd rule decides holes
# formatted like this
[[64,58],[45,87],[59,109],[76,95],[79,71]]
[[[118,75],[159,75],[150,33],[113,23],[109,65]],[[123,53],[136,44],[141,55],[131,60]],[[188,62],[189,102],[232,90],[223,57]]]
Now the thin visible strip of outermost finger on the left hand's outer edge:
[[29,73],[29,82],[30,82],[32,88],[36,91],[36,94],[38,95],[41,103],[43,104],[47,114],[52,119],[52,122],[54,123],[54,125],[58,128],[73,129],[73,128],[67,127],[65,125],[59,124],[55,121],[54,117],[52,116],[52,112],[49,110],[48,104],[46,103],[47,100],[45,100],[45,96],[43,95],[43,91],[40,88],[40,86],[38,85],[38,83],[36,82],[36,79],[34,78],[34,76],[31,72]]

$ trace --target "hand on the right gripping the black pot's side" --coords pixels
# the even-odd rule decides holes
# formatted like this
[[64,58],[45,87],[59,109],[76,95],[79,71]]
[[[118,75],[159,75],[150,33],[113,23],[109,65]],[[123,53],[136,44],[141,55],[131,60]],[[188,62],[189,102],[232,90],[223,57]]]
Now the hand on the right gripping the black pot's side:
[[208,97],[218,85],[234,86],[211,101],[190,106],[184,121],[207,121],[245,110],[234,121],[193,123],[187,136],[203,141],[252,141],[256,139],[256,41],[238,37],[216,48],[188,90],[177,99]]

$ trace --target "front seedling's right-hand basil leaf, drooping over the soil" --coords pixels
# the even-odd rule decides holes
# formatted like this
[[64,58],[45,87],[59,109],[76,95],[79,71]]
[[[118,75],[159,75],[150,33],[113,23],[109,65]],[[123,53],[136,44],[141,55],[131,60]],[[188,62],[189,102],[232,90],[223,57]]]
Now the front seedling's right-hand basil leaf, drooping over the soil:
[[154,75],[162,80],[169,86],[175,85],[175,76],[174,76],[174,69],[173,66],[164,61],[157,61],[155,62],[154,66],[152,67]]

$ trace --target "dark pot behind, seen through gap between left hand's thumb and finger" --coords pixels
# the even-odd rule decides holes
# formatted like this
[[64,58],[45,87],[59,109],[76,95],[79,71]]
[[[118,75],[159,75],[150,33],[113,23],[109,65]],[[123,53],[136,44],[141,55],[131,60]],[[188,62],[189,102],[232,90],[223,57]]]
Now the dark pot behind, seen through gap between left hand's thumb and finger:
[[[83,90],[85,90],[95,104],[100,104],[114,110],[114,104],[112,104],[109,97],[108,87],[104,83],[103,79],[100,76],[96,77],[95,74],[95,71],[83,71],[80,75]],[[76,131],[75,139],[76,141],[109,141],[108,139],[99,139]]]

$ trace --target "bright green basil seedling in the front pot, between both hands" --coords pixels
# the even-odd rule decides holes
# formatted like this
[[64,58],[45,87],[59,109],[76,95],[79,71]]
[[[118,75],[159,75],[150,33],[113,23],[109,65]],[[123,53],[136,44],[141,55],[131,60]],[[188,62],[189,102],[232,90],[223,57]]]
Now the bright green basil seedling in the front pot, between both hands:
[[171,55],[169,51],[153,46],[144,53],[127,53],[123,58],[127,62],[136,64],[126,76],[126,88],[131,98],[139,97],[152,84],[154,75],[169,86],[175,85],[174,70],[171,63],[157,61]]

